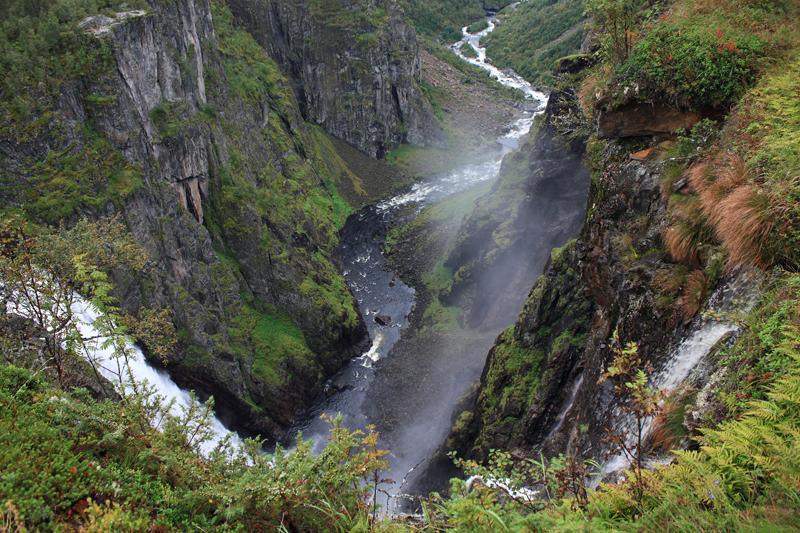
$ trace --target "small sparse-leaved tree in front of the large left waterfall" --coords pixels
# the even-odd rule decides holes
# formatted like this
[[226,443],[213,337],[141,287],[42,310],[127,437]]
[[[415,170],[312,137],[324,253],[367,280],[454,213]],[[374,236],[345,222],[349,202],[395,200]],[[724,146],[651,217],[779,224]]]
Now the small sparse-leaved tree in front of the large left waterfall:
[[[99,380],[94,349],[100,343],[116,358],[115,372],[125,394],[127,361],[133,332],[163,356],[174,346],[174,332],[163,311],[146,311],[137,320],[118,307],[108,271],[125,268],[141,272],[147,255],[115,219],[82,220],[57,230],[35,227],[21,218],[0,222],[0,304],[3,313],[30,321],[43,337],[43,359],[37,370],[53,369],[61,387],[68,385],[69,369],[83,358]],[[81,330],[76,304],[83,298],[101,312],[93,334]],[[17,361],[13,361],[19,363]],[[135,386],[135,385],[134,385]]]

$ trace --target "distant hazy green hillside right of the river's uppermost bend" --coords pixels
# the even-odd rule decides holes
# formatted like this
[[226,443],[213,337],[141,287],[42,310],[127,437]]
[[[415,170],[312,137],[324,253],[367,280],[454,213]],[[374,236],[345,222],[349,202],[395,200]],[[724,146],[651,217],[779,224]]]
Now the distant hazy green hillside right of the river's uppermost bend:
[[583,0],[527,0],[503,10],[482,44],[500,68],[532,83],[549,84],[557,59],[580,52],[585,35]]

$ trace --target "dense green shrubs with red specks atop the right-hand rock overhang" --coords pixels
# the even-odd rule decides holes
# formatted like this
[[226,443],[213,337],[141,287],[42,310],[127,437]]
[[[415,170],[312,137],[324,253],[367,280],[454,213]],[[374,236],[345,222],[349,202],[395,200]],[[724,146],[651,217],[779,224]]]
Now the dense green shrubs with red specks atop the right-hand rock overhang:
[[[618,12],[620,5],[625,9]],[[637,0],[597,0],[589,4],[606,30],[602,42],[614,69],[612,98],[666,102],[695,110],[727,110],[753,84],[770,58],[796,44],[789,24],[797,13],[792,2],[676,2],[661,16],[657,16],[659,5],[643,11],[637,7],[646,6]],[[643,35],[624,30],[642,24],[647,30]],[[617,94],[625,92],[623,87],[635,90],[624,96]]]

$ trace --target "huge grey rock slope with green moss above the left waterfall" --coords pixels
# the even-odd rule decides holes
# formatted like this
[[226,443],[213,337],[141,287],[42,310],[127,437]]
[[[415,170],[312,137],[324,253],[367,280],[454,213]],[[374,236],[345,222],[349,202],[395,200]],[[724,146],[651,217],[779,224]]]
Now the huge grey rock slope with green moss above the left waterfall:
[[[226,2],[131,7],[141,11],[4,4],[4,213],[50,225],[121,217],[152,263],[144,277],[114,272],[117,292],[131,311],[171,311],[175,379],[213,394],[241,426],[280,436],[365,335],[333,262],[350,212],[337,187],[361,195],[359,178]],[[359,120],[410,117],[413,31],[377,24],[381,43],[401,35],[395,44],[408,53],[374,70],[354,60],[361,66],[349,68],[385,75],[384,92],[364,82],[344,95],[391,102],[396,93],[382,114],[353,110]],[[326,72],[326,94],[346,100]],[[347,138],[360,125],[331,129]],[[405,128],[387,119],[363,147],[391,146]]]

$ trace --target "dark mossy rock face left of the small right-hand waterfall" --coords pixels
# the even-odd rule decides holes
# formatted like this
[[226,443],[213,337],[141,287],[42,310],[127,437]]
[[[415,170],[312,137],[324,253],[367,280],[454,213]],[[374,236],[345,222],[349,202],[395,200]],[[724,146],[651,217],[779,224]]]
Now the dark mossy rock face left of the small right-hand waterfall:
[[651,152],[643,161],[619,141],[592,143],[583,229],[553,251],[515,325],[492,348],[474,410],[462,415],[462,451],[597,454],[613,408],[598,378],[613,358],[614,330],[623,344],[639,343],[644,361],[666,355],[684,323],[668,288],[681,270],[661,242],[663,161]]

